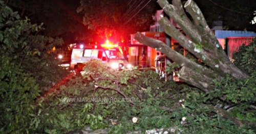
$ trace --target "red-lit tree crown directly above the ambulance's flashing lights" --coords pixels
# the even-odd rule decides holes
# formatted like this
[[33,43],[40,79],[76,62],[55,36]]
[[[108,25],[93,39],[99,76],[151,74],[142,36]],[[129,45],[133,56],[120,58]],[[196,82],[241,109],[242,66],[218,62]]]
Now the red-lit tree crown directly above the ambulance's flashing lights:
[[154,24],[156,1],[81,1],[83,23],[100,38],[125,39],[136,31],[148,31]]

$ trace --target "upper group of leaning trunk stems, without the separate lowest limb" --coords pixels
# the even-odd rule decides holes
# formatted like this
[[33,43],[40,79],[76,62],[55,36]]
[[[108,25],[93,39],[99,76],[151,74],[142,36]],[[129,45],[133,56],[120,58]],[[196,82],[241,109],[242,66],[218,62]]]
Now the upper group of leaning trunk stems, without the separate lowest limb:
[[[159,24],[164,32],[176,39],[182,47],[201,59],[220,76],[230,74],[234,78],[244,79],[248,77],[236,65],[234,65],[222,50],[221,45],[215,35],[210,31],[206,21],[195,2],[189,0],[185,4],[188,13],[193,16],[193,24],[186,15],[182,13],[180,0],[174,0],[174,5],[170,5],[166,0],[158,0],[158,4],[163,8],[190,39],[178,31],[167,18],[161,18]],[[178,7],[176,7],[178,6]]]

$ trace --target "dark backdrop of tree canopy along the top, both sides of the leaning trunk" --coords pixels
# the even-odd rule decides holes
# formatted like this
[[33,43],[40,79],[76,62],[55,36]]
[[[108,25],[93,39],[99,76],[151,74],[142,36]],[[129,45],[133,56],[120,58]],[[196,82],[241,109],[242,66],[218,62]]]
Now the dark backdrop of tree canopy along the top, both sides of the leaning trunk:
[[[74,40],[95,42],[110,36],[120,40],[137,31],[148,31],[150,25],[154,24],[152,15],[161,9],[156,0],[6,2],[19,11],[22,18],[27,16],[33,23],[44,23],[45,35],[62,37],[67,43]],[[214,21],[223,20],[224,29],[255,31],[255,25],[250,24],[256,10],[253,1],[195,2],[210,27],[215,25]]]

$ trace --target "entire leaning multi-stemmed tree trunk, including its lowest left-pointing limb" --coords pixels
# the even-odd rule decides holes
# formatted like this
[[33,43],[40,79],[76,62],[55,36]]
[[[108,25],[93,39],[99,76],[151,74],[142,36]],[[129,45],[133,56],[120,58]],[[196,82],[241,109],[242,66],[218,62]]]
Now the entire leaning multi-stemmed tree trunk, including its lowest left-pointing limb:
[[182,47],[202,60],[210,68],[207,69],[205,66],[185,58],[159,40],[136,33],[135,39],[139,42],[157,49],[174,62],[184,66],[180,73],[180,79],[207,91],[213,88],[209,85],[212,79],[225,77],[226,75],[231,75],[237,79],[248,77],[246,73],[228,59],[195,2],[188,0],[184,5],[186,11],[192,16],[193,22],[186,16],[180,0],[173,0],[173,5],[166,0],[158,0],[157,2],[165,13],[176,21],[188,37],[173,26],[166,17],[159,20],[164,32],[177,40]]

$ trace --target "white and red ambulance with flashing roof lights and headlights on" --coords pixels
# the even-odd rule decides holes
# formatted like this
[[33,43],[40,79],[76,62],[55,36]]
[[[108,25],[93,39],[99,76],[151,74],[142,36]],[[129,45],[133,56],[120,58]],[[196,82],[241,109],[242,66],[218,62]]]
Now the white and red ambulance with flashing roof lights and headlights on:
[[114,70],[131,69],[132,65],[124,58],[118,44],[106,40],[104,44],[74,44],[71,55],[71,68],[82,69],[91,59],[101,60]]

